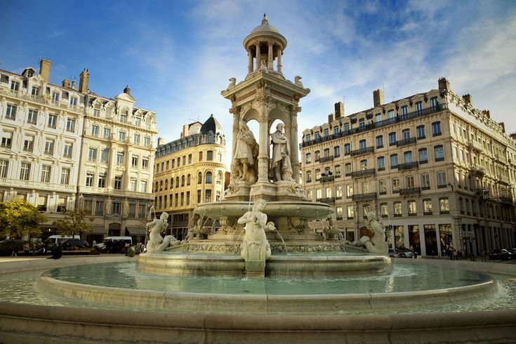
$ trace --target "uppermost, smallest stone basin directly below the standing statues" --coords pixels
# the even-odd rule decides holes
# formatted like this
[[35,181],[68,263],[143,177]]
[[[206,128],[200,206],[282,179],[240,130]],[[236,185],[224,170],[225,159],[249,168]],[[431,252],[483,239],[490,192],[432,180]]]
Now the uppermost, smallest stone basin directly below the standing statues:
[[[199,204],[196,213],[212,220],[221,217],[236,218],[251,210],[253,203],[245,201],[220,201]],[[270,218],[303,218],[306,220],[324,220],[333,213],[331,206],[310,201],[269,201],[263,210]]]

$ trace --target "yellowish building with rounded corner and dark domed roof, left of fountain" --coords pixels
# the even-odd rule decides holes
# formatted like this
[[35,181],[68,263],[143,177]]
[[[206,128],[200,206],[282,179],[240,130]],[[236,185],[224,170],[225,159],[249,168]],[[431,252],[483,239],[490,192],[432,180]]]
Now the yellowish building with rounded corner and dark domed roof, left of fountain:
[[168,234],[186,235],[195,207],[219,201],[225,189],[226,147],[223,130],[213,114],[204,124],[183,126],[180,138],[159,138],[154,168],[154,206],[157,216],[169,215]]

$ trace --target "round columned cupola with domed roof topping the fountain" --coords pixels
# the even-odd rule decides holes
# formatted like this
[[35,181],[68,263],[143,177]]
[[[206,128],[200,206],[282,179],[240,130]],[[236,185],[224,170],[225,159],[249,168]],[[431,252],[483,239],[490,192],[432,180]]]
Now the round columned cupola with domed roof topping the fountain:
[[[258,70],[267,70],[282,74],[282,54],[286,48],[286,38],[279,33],[276,27],[269,24],[263,13],[262,24],[251,31],[244,39],[244,48],[247,51],[249,63],[248,77]],[[276,68],[274,69],[274,61]]]

